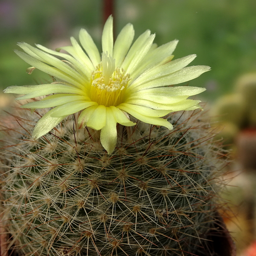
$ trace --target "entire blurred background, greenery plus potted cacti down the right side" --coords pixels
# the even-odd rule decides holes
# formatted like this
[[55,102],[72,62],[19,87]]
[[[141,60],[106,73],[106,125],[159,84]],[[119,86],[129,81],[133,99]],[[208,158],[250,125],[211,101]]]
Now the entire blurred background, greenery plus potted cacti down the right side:
[[[0,91],[49,81],[39,70],[26,73],[29,65],[13,52],[17,42],[55,49],[70,45],[70,36],[78,38],[83,27],[100,48],[106,2],[0,0]],[[200,99],[211,106],[214,122],[221,123],[225,148],[233,150],[227,179],[234,178],[226,198],[235,217],[226,223],[239,255],[255,256],[246,248],[256,240],[256,1],[115,0],[113,16],[116,35],[133,23],[135,38],[150,29],[158,45],[179,39],[175,58],[197,54],[193,65],[212,68],[189,85],[207,88]],[[241,79],[247,73],[249,78]],[[5,98],[0,94],[0,108]]]

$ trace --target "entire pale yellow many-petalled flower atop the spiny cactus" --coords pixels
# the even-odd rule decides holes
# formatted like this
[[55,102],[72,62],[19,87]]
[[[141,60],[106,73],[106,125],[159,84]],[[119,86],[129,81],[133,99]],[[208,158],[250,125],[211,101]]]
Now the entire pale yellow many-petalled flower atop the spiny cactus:
[[[110,16],[102,32],[102,55],[85,29],[79,33],[81,46],[71,37],[72,46],[58,51],[19,43],[24,52],[15,52],[33,66],[31,70],[38,68],[57,80],[51,84],[11,86],[4,92],[25,94],[18,99],[51,94],[22,106],[55,107],[38,121],[32,134],[35,139],[51,131],[66,116],[81,111],[79,126],[101,130],[101,143],[111,153],[116,146],[116,124],[135,125],[129,116],[172,129],[172,124],[161,117],[173,111],[200,108],[199,100],[187,98],[204,88],[168,85],[194,79],[209,67],[186,67],[196,55],[171,61],[178,41],[157,47],[154,37],[147,30],[132,44],[134,29],[129,23],[113,42]],[[59,52],[60,49],[68,54]]]

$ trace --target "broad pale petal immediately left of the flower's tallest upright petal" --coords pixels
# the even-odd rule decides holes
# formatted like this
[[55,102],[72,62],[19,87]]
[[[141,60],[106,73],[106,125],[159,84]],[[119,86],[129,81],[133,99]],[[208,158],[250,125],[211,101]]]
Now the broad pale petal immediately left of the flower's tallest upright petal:
[[79,41],[82,47],[84,48],[84,50],[87,52],[87,55],[92,61],[93,66],[96,67],[101,61],[99,50],[96,47],[96,44],[93,42],[92,37],[89,35],[89,33],[85,29],[80,30]]

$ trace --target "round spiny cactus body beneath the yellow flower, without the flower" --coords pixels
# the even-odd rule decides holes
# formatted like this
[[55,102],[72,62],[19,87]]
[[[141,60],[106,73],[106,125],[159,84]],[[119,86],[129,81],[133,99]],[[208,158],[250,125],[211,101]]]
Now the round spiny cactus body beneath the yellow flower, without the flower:
[[76,115],[32,140],[42,113],[25,109],[15,128],[3,128],[1,207],[10,248],[26,256],[205,250],[224,163],[201,111],[169,115],[172,131],[120,125],[110,155],[99,132],[78,129]]

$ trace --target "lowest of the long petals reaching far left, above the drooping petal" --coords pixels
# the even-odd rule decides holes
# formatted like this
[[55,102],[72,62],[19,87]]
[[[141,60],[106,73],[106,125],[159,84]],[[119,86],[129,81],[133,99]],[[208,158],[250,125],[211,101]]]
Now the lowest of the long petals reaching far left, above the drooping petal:
[[88,97],[80,96],[76,94],[54,94],[50,95],[41,101],[29,102],[25,105],[22,105],[21,108],[52,108],[58,105],[63,105],[68,102],[74,102],[77,100],[88,100]]

